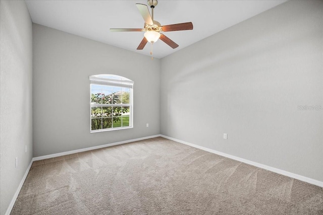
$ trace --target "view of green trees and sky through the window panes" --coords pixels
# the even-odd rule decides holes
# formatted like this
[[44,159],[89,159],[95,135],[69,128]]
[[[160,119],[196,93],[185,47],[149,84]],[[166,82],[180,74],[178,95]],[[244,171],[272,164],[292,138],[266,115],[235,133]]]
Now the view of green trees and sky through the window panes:
[[91,130],[129,126],[130,89],[91,84]]

